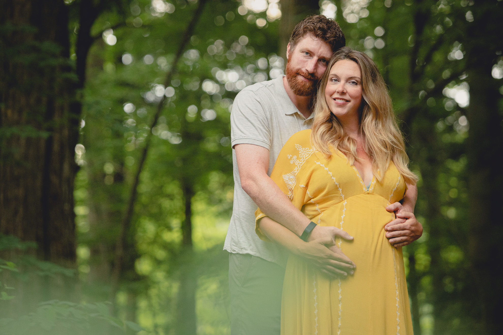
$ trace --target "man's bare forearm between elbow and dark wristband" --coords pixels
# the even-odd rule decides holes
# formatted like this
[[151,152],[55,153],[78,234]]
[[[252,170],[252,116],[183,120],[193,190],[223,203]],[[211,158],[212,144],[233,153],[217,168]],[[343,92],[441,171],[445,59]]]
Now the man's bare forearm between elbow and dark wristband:
[[243,185],[244,191],[260,209],[297,236],[302,235],[310,220],[295,207],[276,183],[267,175]]

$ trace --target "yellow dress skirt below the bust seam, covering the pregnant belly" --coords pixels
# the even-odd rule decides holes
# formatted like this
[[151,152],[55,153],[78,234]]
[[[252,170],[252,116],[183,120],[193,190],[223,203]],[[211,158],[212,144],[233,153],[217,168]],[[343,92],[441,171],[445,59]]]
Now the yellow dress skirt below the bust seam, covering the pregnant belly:
[[305,259],[290,256],[283,286],[283,335],[412,333],[401,248],[395,250],[384,236],[384,226],[394,218],[387,204],[381,196],[361,194],[323,212],[321,226],[342,228],[355,238],[336,240],[355,262],[355,273],[333,280]]

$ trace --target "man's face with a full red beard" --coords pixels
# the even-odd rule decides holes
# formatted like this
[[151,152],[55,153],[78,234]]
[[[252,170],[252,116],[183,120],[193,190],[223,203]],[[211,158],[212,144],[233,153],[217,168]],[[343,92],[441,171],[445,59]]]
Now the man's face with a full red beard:
[[286,79],[288,85],[297,95],[313,95],[318,80],[325,72],[326,65],[332,55],[332,49],[327,43],[311,34],[306,34],[293,50],[288,44],[287,55]]

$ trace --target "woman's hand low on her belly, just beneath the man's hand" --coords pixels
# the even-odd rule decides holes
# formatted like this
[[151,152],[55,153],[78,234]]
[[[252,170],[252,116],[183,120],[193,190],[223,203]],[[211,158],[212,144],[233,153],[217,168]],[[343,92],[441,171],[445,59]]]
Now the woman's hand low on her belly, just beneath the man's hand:
[[303,243],[296,254],[308,260],[309,264],[314,265],[332,280],[345,278],[348,274],[354,273],[356,265],[334,242],[333,238],[325,237]]

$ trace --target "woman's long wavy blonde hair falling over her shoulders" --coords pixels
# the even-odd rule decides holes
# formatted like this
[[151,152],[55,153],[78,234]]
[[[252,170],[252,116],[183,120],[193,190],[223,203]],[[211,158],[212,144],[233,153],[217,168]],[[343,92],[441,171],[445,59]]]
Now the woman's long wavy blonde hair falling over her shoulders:
[[341,151],[353,165],[358,160],[356,140],[345,133],[343,126],[326,103],[325,87],[332,66],[340,60],[352,60],[362,72],[362,104],[360,106],[360,133],[365,138],[365,151],[372,161],[377,180],[382,181],[384,172],[392,161],[407,184],[415,184],[417,176],[408,168],[403,137],[398,129],[391,98],[384,79],[374,61],[365,53],[343,47],[333,54],[321,77],[314,103],[314,120],[311,133],[313,147],[325,155],[331,155],[331,145]]

